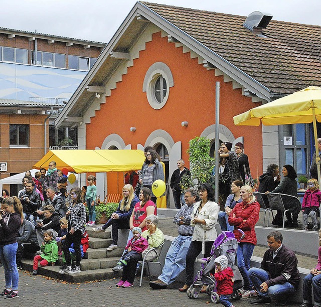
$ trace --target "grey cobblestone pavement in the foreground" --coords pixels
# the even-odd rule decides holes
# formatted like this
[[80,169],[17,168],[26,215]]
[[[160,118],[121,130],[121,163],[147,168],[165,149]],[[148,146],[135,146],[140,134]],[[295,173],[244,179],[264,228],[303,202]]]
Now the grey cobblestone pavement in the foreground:
[[[16,307],[43,307],[43,306],[222,306],[213,304],[207,294],[201,294],[198,299],[190,299],[186,293],[179,293],[178,288],[182,284],[174,283],[167,289],[152,290],[148,286],[148,278],[145,278],[141,288],[136,277],[131,288],[117,288],[118,279],[104,280],[100,282],[68,284],[57,280],[46,279],[41,275],[33,276],[27,271],[19,271],[19,298],[0,298],[0,306]],[[0,269],[0,279],[4,281],[4,270]],[[233,301],[238,306],[248,306],[249,299]],[[297,306],[299,304],[288,304]],[[273,304],[271,304],[273,306]]]

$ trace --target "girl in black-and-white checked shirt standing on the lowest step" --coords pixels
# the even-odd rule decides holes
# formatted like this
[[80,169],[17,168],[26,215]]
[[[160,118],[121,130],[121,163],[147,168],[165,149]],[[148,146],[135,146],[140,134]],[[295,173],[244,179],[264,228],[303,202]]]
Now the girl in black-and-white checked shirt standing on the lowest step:
[[[84,224],[86,222],[86,208],[83,204],[82,191],[80,188],[73,188],[70,191],[70,197],[72,204],[69,206],[66,213],[66,219],[68,220],[68,233],[63,245],[63,252],[66,257],[66,268],[59,271],[59,273],[75,274],[80,273],[80,260],[81,260],[81,238],[85,233]],[[71,267],[71,256],[69,253],[69,247],[74,244],[76,265]]]

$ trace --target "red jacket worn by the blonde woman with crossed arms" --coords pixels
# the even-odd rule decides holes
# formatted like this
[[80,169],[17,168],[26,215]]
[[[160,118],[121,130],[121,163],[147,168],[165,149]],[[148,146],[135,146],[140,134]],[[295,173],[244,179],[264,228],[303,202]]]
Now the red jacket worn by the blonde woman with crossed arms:
[[[241,242],[248,242],[256,245],[256,234],[254,226],[259,220],[260,205],[256,201],[255,197],[247,203],[238,203],[233,208],[231,214],[229,215],[229,224],[234,226],[234,236],[239,241],[241,238],[241,233],[238,229],[241,229],[245,233],[245,237]],[[233,217],[235,214],[235,218]],[[245,221],[244,221],[245,220]]]

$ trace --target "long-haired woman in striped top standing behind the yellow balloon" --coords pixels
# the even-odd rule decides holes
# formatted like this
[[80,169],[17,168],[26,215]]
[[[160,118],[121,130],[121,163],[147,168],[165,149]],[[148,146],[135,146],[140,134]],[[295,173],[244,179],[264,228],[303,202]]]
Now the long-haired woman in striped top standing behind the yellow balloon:
[[[165,181],[164,169],[157,158],[155,150],[148,150],[146,159],[142,165],[138,182],[142,187],[148,188],[151,191],[151,185],[155,180],[161,179]],[[151,200],[156,204],[156,197],[152,194]]]

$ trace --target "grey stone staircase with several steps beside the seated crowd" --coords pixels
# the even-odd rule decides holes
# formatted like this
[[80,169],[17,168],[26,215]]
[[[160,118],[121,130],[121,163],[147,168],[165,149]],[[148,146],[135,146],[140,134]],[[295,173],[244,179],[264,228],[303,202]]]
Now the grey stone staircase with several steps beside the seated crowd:
[[[69,275],[60,274],[59,266],[62,265],[62,257],[59,257],[55,266],[45,266],[38,268],[38,275],[45,275],[68,282],[84,282],[93,280],[110,279],[119,277],[119,272],[112,271],[123,252],[123,248],[107,251],[106,248],[111,244],[111,233],[96,233],[92,231],[92,227],[86,227],[89,234],[89,248],[81,259],[81,272]],[[25,259],[22,261],[24,270],[33,271],[33,260]]]

